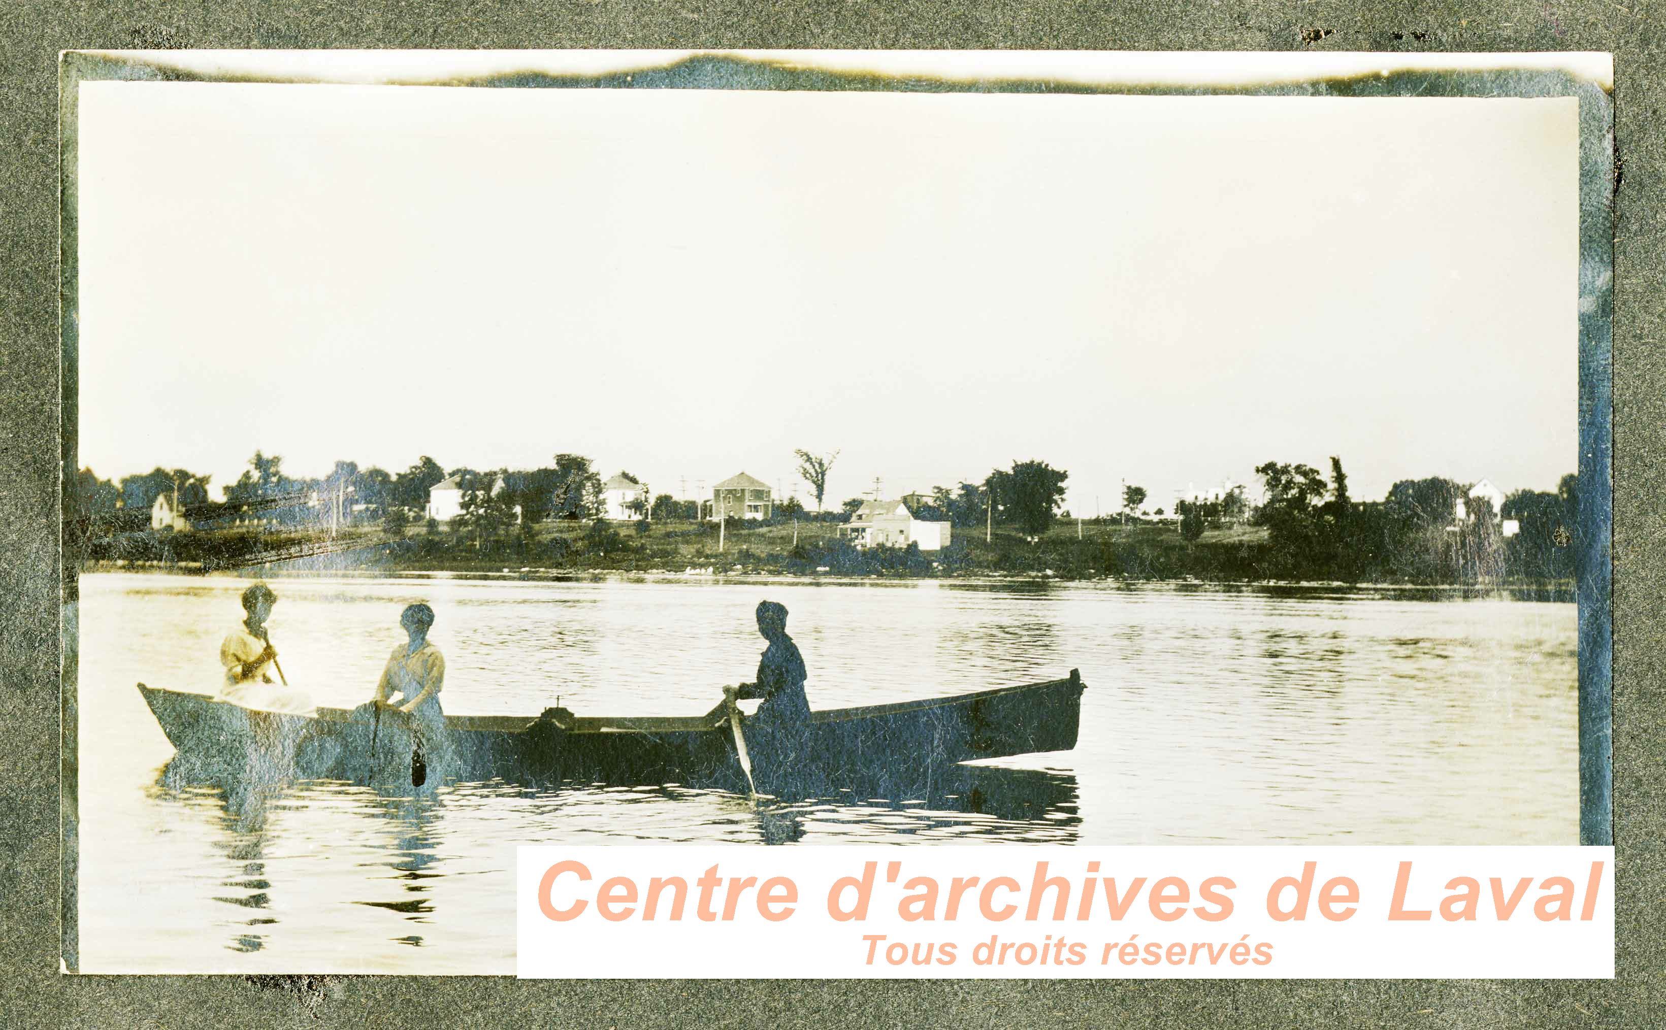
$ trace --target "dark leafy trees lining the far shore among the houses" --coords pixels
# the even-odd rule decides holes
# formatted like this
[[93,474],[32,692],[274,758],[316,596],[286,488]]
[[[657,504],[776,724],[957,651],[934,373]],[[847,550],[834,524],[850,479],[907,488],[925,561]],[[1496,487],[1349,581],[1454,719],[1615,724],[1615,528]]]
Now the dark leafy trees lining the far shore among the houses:
[[[813,455],[798,450],[795,457],[820,508],[838,452]],[[1259,505],[1250,505],[1240,488],[1216,500],[1183,500],[1175,512],[1180,538],[1188,547],[1226,547],[1226,542],[1203,538],[1210,527],[1263,527],[1263,542],[1233,543],[1231,567],[1246,577],[1464,583],[1501,577],[1564,580],[1574,573],[1581,518],[1579,482],[1571,473],[1554,492],[1518,490],[1506,497],[1499,512],[1493,512],[1484,498],[1468,497],[1469,485],[1443,477],[1399,480],[1381,502],[1354,500],[1338,457],[1329,460],[1328,475],[1291,462],[1266,462],[1254,472],[1263,483]],[[193,515],[250,508],[282,512],[283,505],[292,505],[298,510],[295,520],[320,517],[317,508],[303,510],[310,498],[325,503],[342,498],[343,515],[357,512],[360,518],[380,520],[390,533],[403,535],[408,525],[425,518],[430,490],[448,477],[456,477],[463,492],[461,512],[450,528],[478,547],[511,527],[521,527],[525,533],[538,522],[595,522],[605,513],[603,480],[590,458],[575,453],[553,455],[550,465],[531,470],[446,468],[428,455],[403,472],[362,468],[343,460],[322,478],[300,478],[283,470],[280,455],[255,452],[238,480],[222,490],[225,500],[218,503],[210,498],[208,475],[162,467],[120,482],[103,480],[83,468],[67,483],[65,500],[67,512],[78,512],[83,520],[95,522],[128,510],[148,525],[150,507],[162,493],[177,492],[183,507],[197,508]],[[1068,478],[1066,470],[1046,462],[1013,460],[981,482],[935,487],[930,497],[911,498],[911,508],[916,518],[943,520],[958,528],[993,525],[1040,542],[1066,515]],[[1138,512],[1145,498],[1145,488],[1126,487],[1123,510]],[[843,522],[866,500],[853,497],[835,512],[815,517]],[[696,522],[706,513],[701,502],[670,493],[651,500],[643,497],[631,507],[651,522]],[[806,517],[811,513],[796,498],[783,498],[776,502],[771,522]],[[1519,532],[1504,537],[1501,520],[1514,520]],[[638,525],[638,530],[646,527]],[[598,537],[595,542],[598,552],[610,547],[611,538]],[[1220,565],[1210,562],[1203,565]],[[1111,568],[1108,563],[1106,570]]]

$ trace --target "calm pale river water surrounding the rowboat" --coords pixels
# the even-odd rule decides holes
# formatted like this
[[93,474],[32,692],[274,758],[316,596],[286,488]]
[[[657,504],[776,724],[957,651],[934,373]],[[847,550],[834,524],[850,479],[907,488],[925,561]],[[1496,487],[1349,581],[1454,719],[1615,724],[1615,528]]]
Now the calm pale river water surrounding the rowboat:
[[83,972],[513,973],[518,843],[1576,843],[1574,605],[1116,583],[285,578],[272,640],[322,703],[370,697],[426,600],[453,713],[696,715],[750,680],[761,598],[818,708],[1081,670],[1073,752],[943,797],[756,813],[681,787],[163,783],[135,682],[212,692],[237,578],[87,575]]

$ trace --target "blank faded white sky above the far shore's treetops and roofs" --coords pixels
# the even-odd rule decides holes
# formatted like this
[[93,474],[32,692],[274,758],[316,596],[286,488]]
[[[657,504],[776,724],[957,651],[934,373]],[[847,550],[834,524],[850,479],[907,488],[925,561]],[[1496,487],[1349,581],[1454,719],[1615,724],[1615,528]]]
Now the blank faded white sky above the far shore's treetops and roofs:
[[80,462],[830,503],[1576,457],[1574,100],[83,83]]

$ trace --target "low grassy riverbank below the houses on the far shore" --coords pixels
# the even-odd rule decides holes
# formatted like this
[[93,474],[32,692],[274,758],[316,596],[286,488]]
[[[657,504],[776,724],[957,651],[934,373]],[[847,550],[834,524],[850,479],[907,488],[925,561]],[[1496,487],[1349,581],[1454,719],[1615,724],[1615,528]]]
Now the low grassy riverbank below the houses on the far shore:
[[[546,522],[476,537],[445,527],[416,525],[403,533],[355,527],[335,535],[293,530],[208,530],[190,533],[125,533],[92,542],[88,558],[98,568],[175,568],[213,572],[448,572],[526,575],[563,573],[713,573],[835,575],[886,578],[1051,577],[1066,580],[1201,580],[1266,582],[1279,562],[1264,528],[1211,528],[1186,542],[1166,525],[1120,525],[1111,520],[1055,523],[1031,542],[1016,530],[955,532],[943,552],[916,548],[858,550],[840,535],[836,522],[801,520],[771,525],[661,522],[575,523]],[[1311,577],[1309,577],[1311,578]],[[1409,577],[1373,577],[1378,583],[1423,583]],[[1436,583],[1428,583],[1436,585]],[[1438,583],[1451,585],[1451,583]],[[1506,578],[1479,583],[1571,595],[1561,582]]]

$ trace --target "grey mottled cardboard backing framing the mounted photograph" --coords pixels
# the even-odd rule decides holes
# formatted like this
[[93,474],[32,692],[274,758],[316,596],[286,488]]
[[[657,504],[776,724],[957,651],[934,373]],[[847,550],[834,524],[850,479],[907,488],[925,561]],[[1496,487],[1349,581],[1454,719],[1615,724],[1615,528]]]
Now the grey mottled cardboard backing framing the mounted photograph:
[[[1659,30],[1613,3],[30,3],[3,15],[5,563],[0,913],[18,1025],[1659,1025],[1658,780],[1663,653],[1648,557],[1661,525]],[[1324,30],[1329,30],[1326,35]],[[1303,40],[1309,38],[1311,43]],[[1613,830],[1614,982],[590,982],[483,978],[60,977],[58,973],[58,197],[57,52],[130,47],[836,47],[1613,50],[1614,208]],[[72,382],[65,383],[72,388]],[[73,608],[67,608],[73,617]],[[1589,802],[1589,798],[1586,798]],[[1589,807],[1588,807],[1589,810]]]

